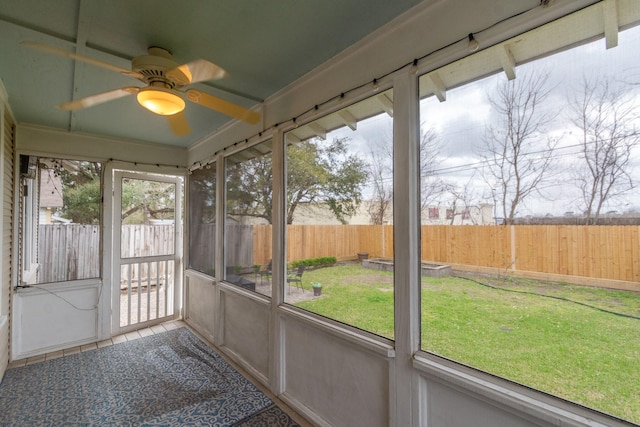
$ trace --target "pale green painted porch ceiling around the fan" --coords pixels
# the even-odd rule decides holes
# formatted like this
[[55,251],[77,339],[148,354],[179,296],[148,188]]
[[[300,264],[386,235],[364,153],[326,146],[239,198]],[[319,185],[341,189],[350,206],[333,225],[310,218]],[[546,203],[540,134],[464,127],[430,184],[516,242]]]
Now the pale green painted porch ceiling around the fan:
[[245,107],[299,79],[420,0],[2,0],[0,79],[19,123],[189,146],[229,117],[189,103],[191,134],[126,97],[76,112],[56,105],[139,82],[19,45],[31,40],[130,68],[161,46],[185,63],[214,62],[229,77],[194,87]]

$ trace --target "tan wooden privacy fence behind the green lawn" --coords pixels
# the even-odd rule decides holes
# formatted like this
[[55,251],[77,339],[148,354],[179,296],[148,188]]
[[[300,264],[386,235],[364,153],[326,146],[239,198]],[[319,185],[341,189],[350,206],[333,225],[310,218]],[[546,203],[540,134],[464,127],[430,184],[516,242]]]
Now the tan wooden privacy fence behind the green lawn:
[[[640,226],[425,225],[424,261],[640,282]],[[289,225],[287,260],[393,258],[391,225]],[[253,227],[255,264],[271,259],[271,226]]]

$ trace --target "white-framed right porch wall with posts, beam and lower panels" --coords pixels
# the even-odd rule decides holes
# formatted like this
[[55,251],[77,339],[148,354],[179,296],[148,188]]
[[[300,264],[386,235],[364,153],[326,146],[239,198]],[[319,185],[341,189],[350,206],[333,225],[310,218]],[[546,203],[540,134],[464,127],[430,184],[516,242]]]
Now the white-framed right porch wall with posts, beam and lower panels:
[[[552,7],[539,7],[525,16],[497,25],[484,34],[485,43],[493,44],[535,28],[594,1],[556,0]],[[532,1],[534,7],[539,2]],[[412,58],[422,57],[469,32],[490,26],[509,16],[508,5],[490,0],[424,2],[380,32],[366,38],[352,49],[338,55],[324,66],[302,78],[264,104],[265,127],[261,137],[274,138],[274,218],[282,219],[283,150],[282,135],[293,126],[292,117],[307,111],[315,103],[338,96],[343,91],[385,75]],[[455,24],[455,25],[453,25]],[[461,30],[461,27],[463,28]],[[486,46],[483,46],[486,47]],[[423,60],[417,69],[409,67],[379,81],[380,90],[394,86],[394,140],[396,171],[395,199],[403,206],[418,204],[415,182],[415,135],[419,127],[417,114],[417,73],[427,72],[469,55],[465,43],[451,46]],[[328,102],[298,123],[320,117],[338,103],[351,103],[373,93],[372,86],[348,92],[342,101]],[[412,100],[413,99],[413,100]],[[400,104],[402,105],[400,105]],[[277,128],[271,127],[278,124]],[[259,137],[251,129],[228,127],[205,141],[190,147],[190,164],[216,160],[225,146]],[[254,141],[255,142],[255,141]],[[409,167],[407,167],[407,164]],[[218,182],[224,182],[219,179]],[[223,193],[218,189],[218,198]],[[222,211],[222,215],[224,211]],[[327,319],[282,305],[282,289],[275,290],[271,316],[263,308],[269,301],[249,296],[232,286],[200,283],[196,286],[223,287],[227,303],[211,299],[196,300],[187,295],[186,318],[202,328],[200,320],[209,307],[214,318],[204,326],[214,342],[229,342],[230,333],[237,344],[229,351],[243,367],[258,372],[257,378],[284,401],[318,425],[425,425],[425,426],[613,426],[625,425],[605,415],[543,393],[512,384],[491,375],[464,368],[419,350],[419,298],[417,271],[419,255],[412,230],[419,224],[416,209],[394,212],[396,224],[396,341],[387,349],[385,342],[364,333],[354,333]],[[221,229],[220,229],[221,231]],[[413,233],[415,234],[415,233]],[[284,271],[284,226],[274,222],[274,283],[280,283]],[[218,236],[221,248],[222,237]],[[218,251],[217,267],[222,267]],[[195,282],[193,282],[195,284]],[[215,291],[213,292],[215,294]],[[196,293],[194,295],[201,295]],[[233,295],[233,296],[231,296]],[[260,302],[257,303],[256,300]],[[228,301],[233,301],[228,304]],[[244,302],[243,302],[244,301]],[[211,304],[213,304],[211,306]],[[257,306],[259,312],[252,313]],[[192,316],[195,314],[195,316]],[[250,319],[250,320],[248,320]],[[269,322],[268,345],[265,338],[253,340]],[[232,325],[227,327],[225,323]],[[256,329],[257,328],[257,329]],[[222,338],[224,334],[224,338]],[[259,360],[255,355],[260,354]],[[267,377],[264,358],[270,358]],[[445,363],[446,362],[446,363]]]

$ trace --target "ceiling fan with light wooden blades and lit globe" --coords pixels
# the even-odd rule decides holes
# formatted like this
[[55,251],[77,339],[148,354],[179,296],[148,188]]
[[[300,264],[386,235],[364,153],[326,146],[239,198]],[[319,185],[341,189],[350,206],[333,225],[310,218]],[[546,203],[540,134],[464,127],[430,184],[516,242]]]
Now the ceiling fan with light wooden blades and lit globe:
[[75,99],[58,105],[58,108],[62,110],[79,110],[136,94],[141,106],[155,114],[165,116],[173,133],[180,136],[190,132],[189,123],[183,113],[186,106],[185,99],[247,123],[255,124],[260,120],[260,114],[255,111],[206,92],[185,88],[193,83],[217,80],[227,76],[227,72],[221,67],[204,59],[196,59],[180,65],[173,60],[169,51],[154,46],[148,49],[147,55],[133,58],[131,70],[127,70],[43,43],[22,41],[20,44],[116,71],[138,79],[146,85],[144,87],[126,86],[86,98]]

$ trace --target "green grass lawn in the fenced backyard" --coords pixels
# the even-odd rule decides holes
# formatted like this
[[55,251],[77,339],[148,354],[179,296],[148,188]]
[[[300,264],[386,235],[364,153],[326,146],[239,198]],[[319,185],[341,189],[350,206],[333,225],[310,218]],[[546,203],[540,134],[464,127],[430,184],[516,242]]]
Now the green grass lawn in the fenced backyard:
[[[423,277],[424,349],[640,423],[640,294],[475,279]],[[393,338],[391,273],[344,265],[311,281],[323,297],[297,306]]]

